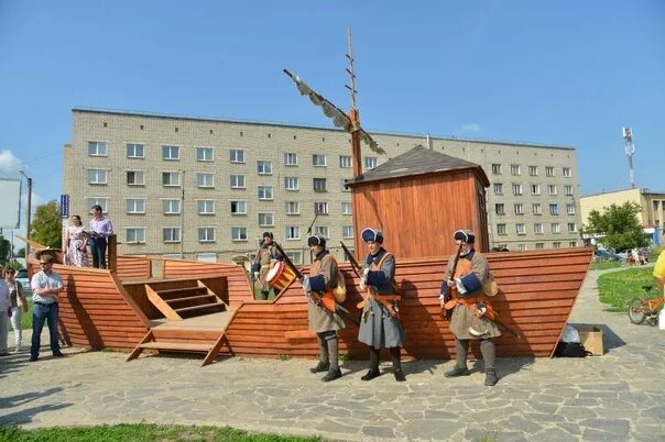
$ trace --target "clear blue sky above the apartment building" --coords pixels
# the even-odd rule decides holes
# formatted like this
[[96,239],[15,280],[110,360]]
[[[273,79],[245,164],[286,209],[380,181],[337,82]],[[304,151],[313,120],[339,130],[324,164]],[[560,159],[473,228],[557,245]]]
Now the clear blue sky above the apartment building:
[[331,128],[282,74],[342,109],[352,26],[372,131],[577,148],[582,195],[665,191],[665,1],[0,0],[0,177],[58,198],[70,110]]

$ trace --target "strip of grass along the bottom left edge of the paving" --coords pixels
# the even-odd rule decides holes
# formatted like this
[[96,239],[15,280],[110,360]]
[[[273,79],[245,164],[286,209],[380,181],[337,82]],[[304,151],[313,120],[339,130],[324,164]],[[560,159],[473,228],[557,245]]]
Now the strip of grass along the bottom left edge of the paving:
[[230,427],[155,426],[151,423],[122,423],[97,427],[55,427],[23,430],[0,424],[0,441],[321,441],[320,438],[296,438],[276,434],[254,434]]

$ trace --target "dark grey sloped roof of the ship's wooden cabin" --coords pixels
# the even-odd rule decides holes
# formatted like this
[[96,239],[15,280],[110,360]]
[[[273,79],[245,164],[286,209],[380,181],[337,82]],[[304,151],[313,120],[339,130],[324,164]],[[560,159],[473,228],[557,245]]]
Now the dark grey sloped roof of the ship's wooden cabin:
[[370,181],[465,169],[475,169],[483,186],[488,187],[490,185],[490,180],[480,165],[430,151],[423,146],[416,146],[411,151],[377,166],[372,170],[358,175],[348,180],[347,185],[352,187]]

